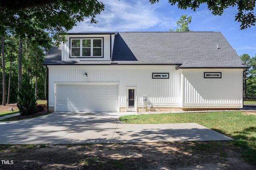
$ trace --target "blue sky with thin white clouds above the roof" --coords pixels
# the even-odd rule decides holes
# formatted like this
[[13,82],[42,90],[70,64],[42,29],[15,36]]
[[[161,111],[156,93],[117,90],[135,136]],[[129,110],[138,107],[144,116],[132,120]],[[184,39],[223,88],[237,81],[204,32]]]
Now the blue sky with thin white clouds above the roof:
[[168,32],[175,30],[180,16],[187,14],[192,16],[190,30],[222,32],[238,55],[256,55],[256,26],[240,30],[240,23],[235,21],[236,7],[225,9],[222,16],[214,16],[205,4],[194,12],[171,6],[168,0],[156,4],[148,0],[100,1],[105,10],[96,16],[98,24],[90,24],[90,18],[85,18],[70,32]]

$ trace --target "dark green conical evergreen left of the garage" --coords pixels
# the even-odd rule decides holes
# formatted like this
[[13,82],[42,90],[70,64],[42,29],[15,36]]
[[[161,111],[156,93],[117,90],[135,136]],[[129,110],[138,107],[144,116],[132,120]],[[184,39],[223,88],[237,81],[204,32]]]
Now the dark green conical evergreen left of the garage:
[[20,110],[20,115],[32,115],[33,113],[36,113],[37,103],[35,93],[27,74],[23,77],[18,95],[19,99],[17,107]]

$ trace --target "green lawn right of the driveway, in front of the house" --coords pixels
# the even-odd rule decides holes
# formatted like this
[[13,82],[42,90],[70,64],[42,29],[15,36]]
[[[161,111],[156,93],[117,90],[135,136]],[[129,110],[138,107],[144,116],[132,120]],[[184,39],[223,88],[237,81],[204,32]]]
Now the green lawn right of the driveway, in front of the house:
[[[198,123],[233,138],[243,149],[245,160],[256,164],[256,116],[242,112],[177,113],[121,116],[120,121],[132,124]],[[202,149],[207,148],[202,146]]]

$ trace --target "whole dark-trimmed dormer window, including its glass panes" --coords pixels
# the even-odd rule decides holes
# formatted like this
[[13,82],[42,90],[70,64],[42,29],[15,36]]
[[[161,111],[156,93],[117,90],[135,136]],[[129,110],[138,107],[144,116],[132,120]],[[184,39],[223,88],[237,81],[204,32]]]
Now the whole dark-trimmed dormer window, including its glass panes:
[[70,57],[103,57],[103,38],[70,38]]

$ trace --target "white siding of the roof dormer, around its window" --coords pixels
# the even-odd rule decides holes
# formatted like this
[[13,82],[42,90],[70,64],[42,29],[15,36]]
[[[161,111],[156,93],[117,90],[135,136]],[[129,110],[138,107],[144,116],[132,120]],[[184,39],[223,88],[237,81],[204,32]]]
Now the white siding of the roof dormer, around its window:
[[[103,56],[104,58],[70,58],[70,38],[104,38],[103,42]],[[112,36],[112,42],[114,37]],[[62,61],[68,60],[80,60],[80,61],[108,61],[110,60],[110,35],[69,35],[66,36],[67,42],[62,43]],[[113,43],[112,43],[112,50],[113,51]]]

